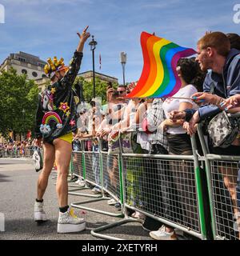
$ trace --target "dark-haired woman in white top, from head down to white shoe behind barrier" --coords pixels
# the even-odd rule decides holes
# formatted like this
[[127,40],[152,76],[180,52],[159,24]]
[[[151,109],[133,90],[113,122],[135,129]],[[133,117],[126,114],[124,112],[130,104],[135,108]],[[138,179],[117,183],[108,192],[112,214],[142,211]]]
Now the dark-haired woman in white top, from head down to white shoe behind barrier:
[[[172,122],[169,119],[169,114],[172,110],[183,111],[191,108],[198,108],[198,106],[190,99],[192,94],[196,93],[202,86],[205,74],[202,73],[198,66],[198,62],[194,58],[181,58],[178,61],[177,66],[178,77],[182,82],[180,90],[173,97],[167,98],[162,104],[162,108],[166,115],[166,120],[162,122],[160,128],[166,131],[166,138],[169,145],[169,154],[192,154],[192,147],[190,142],[190,136],[186,134],[186,130],[182,128],[183,120]],[[170,162],[170,170],[173,181],[171,186],[176,187],[178,194],[176,198],[172,198],[175,202],[179,202],[179,207],[171,209],[171,211],[181,212],[179,219],[182,224],[187,225],[191,228],[196,228],[198,225],[198,212],[193,208],[193,190],[194,190],[194,178],[193,170],[182,163],[179,166],[178,163]],[[167,188],[170,189],[170,188]],[[177,198],[178,197],[178,198]],[[150,236],[158,240],[175,240],[174,229],[170,226],[163,225],[157,231],[151,231]]]

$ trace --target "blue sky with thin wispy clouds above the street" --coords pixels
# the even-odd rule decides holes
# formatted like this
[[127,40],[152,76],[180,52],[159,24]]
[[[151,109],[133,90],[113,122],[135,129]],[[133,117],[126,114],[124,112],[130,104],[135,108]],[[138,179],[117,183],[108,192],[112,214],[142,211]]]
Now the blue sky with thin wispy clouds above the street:
[[[78,45],[76,33],[89,25],[98,42],[95,71],[122,83],[120,53],[124,51],[126,82],[137,81],[143,65],[142,31],[195,49],[205,31],[240,33],[240,23],[234,22],[238,3],[240,0],[0,0],[5,9],[5,23],[0,17],[0,63],[10,53],[24,51],[43,60],[56,55],[67,64]],[[92,70],[88,42],[81,72]]]

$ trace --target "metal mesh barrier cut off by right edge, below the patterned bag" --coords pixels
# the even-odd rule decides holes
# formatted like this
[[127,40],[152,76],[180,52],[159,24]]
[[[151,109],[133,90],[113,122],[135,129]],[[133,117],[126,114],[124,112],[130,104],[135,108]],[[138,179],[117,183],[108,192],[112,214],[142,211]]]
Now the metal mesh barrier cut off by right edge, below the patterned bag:
[[239,240],[240,235],[240,156],[210,154],[202,124],[198,134],[206,164],[211,226],[216,240]]

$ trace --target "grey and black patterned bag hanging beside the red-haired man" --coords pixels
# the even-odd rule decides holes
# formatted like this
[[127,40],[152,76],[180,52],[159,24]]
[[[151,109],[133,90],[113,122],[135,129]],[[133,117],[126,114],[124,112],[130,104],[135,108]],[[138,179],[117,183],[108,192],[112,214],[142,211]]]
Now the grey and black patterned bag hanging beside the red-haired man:
[[226,111],[222,111],[210,120],[207,131],[214,147],[226,148],[238,135],[238,119],[229,117]]

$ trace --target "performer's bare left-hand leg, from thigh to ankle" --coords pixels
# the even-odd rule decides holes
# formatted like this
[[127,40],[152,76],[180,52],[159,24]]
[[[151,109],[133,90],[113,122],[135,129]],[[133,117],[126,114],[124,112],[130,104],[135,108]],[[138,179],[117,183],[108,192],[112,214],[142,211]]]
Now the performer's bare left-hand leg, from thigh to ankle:
[[49,143],[44,143],[43,150],[44,150],[43,169],[41,174],[38,177],[38,200],[42,200],[43,195],[46,191],[48,178],[54,166],[54,159],[55,159],[54,146],[52,146]]

